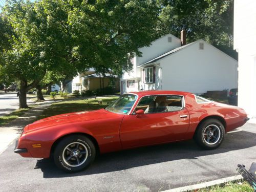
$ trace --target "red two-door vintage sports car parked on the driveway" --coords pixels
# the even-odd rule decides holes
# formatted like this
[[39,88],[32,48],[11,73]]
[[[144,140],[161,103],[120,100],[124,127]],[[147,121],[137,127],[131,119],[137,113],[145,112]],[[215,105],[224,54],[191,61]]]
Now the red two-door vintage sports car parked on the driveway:
[[187,92],[125,93],[107,108],[56,115],[25,126],[14,152],[53,157],[67,172],[88,167],[96,153],[194,138],[206,150],[248,120],[245,111]]

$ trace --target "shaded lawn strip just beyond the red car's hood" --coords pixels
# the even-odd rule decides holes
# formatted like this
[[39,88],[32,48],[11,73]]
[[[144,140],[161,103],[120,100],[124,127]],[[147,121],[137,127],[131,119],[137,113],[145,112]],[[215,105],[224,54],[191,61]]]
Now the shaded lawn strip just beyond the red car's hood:
[[[49,108],[47,108],[37,119],[42,119],[50,117],[53,115],[59,115],[63,113],[71,113],[78,111],[92,111],[105,108],[111,102],[116,100],[118,97],[106,97],[106,98],[97,98],[97,99],[80,99],[80,100],[68,100],[53,103]],[[98,101],[101,100],[102,104],[99,104]]]

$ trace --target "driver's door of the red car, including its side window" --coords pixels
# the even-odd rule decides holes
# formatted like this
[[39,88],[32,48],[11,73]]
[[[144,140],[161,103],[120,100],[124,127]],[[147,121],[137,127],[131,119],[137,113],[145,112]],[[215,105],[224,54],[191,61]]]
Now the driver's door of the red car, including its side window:
[[[139,109],[145,114],[136,115]],[[146,96],[140,99],[133,114],[124,116],[120,140],[123,148],[183,140],[188,126],[189,113],[183,96]]]

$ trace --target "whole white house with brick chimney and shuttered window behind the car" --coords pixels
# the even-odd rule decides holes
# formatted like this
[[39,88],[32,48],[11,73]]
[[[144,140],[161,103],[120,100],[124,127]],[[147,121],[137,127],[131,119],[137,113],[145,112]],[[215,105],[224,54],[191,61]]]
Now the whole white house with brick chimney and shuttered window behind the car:
[[[200,39],[185,45],[167,34],[140,48],[133,71],[121,78],[121,93],[139,90],[176,90],[202,94],[238,87],[238,61]],[[183,46],[181,46],[181,44]]]

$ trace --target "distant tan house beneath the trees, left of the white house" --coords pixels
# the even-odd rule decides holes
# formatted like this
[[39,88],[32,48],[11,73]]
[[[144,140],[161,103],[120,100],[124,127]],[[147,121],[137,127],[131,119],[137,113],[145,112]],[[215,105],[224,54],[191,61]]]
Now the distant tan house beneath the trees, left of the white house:
[[[72,92],[74,90],[79,90],[80,92],[82,90],[97,90],[100,89],[100,82],[101,86],[104,88],[108,87],[110,84],[110,79],[113,80],[113,86],[116,90],[120,90],[120,79],[116,75],[111,74],[105,74],[104,78],[101,74],[101,78],[99,77],[99,74],[96,74],[94,69],[91,68],[86,73],[78,74],[76,77],[72,80]],[[104,80],[104,82],[103,82]]]

